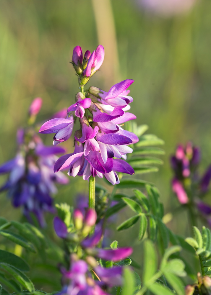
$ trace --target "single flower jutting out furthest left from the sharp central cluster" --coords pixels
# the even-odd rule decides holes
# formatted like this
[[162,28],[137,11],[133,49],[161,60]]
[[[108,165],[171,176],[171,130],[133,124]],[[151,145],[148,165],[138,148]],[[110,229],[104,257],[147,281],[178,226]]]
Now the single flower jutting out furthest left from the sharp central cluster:
[[72,134],[74,119],[71,115],[65,118],[55,118],[45,122],[39,130],[39,133],[55,133],[53,145],[66,141]]

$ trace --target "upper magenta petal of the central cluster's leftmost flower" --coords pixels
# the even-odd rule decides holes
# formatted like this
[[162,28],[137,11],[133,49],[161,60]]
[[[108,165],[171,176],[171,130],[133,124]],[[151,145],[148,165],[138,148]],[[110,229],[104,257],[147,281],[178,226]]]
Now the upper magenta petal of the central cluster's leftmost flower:
[[67,127],[73,121],[65,118],[55,118],[45,122],[39,130],[39,133],[54,133],[58,130]]

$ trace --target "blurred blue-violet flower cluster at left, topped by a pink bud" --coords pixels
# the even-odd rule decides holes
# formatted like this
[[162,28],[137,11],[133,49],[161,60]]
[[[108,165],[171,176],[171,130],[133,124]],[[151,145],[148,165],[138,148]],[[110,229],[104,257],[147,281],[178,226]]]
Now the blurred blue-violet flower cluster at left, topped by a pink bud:
[[[30,116],[35,116],[41,107],[41,99],[35,99],[30,106]],[[31,117],[30,117],[31,118]],[[1,190],[8,190],[14,207],[23,206],[23,213],[32,221],[30,213],[45,225],[45,211],[54,212],[51,193],[56,193],[55,183],[66,184],[68,178],[53,172],[58,159],[56,154],[64,153],[61,147],[45,146],[32,127],[17,130],[18,151],[14,159],[1,165],[1,173],[9,173]]]

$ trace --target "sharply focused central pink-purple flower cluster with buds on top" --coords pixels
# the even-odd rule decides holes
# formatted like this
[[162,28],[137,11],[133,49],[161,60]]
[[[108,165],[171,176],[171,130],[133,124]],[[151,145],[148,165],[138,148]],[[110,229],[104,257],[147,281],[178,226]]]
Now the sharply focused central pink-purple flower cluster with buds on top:
[[[134,169],[126,163],[127,153],[132,153],[130,144],[138,142],[138,137],[121,126],[124,122],[136,119],[129,103],[128,87],[134,80],[124,80],[105,92],[91,86],[84,91],[84,85],[100,68],[104,59],[104,49],[99,45],[90,54],[86,51],[84,58],[81,47],[73,50],[72,63],[79,76],[81,92],[76,95],[76,102],[67,109],[66,118],[53,118],[44,123],[39,133],[55,133],[53,145],[69,139],[74,122],[79,118],[81,129],[74,134],[75,149],[71,154],[59,158],[54,171],[69,168],[69,176],[103,176],[112,184],[119,183],[116,172],[134,174]],[[124,160],[122,160],[122,159]]]

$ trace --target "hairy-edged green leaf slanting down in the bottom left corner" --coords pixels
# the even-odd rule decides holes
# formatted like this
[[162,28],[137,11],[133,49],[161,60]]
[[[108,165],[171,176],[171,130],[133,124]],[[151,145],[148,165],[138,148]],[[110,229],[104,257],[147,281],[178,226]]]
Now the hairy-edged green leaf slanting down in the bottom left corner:
[[25,273],[7,263],[1,263],[1,267],[4,269],[4,271],[10,273],[18,282],[20,282],[30,292],[34,291],[34,285],[32,281],[25,275]]

